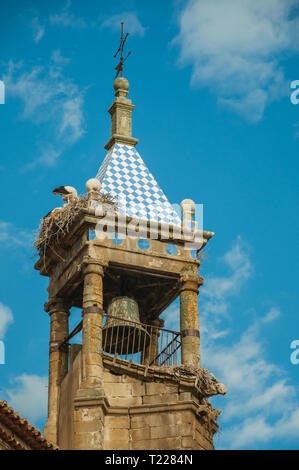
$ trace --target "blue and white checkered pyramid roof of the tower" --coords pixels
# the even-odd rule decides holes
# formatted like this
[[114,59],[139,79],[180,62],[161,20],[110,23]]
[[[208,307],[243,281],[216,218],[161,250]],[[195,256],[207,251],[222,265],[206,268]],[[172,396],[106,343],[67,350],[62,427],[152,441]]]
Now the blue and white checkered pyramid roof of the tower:
[[101,190],[118,200],[119,211],[131,217],[180,225],[181,220],[135,147],[114,144],[96,176]]

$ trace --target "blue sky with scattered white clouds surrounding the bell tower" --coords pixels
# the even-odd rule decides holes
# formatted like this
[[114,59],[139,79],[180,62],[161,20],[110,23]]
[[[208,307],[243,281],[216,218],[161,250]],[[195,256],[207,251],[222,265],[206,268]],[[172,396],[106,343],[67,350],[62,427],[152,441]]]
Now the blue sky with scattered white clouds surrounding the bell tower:
[[[199,296],[203,365],[228,388],[216,448],[298,448],[298,14],[297,0],[1,3],[0,396],[37,426],[49,318],[32,241],[52,189],[85,191],[105,156],[124,20],[137,149],[216,234]],[[164,316],[177,326],[177,302]]]

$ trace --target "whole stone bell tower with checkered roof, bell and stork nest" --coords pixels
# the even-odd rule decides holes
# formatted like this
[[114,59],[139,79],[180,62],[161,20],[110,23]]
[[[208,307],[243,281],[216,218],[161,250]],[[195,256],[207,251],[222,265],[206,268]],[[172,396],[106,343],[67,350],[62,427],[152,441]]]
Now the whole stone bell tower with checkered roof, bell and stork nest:
[[[61,187],[66,204],[36,243],[51,324],[44,434],[61,449],[213,449],[220,411],[208,397],[225,387],[201,368],[197,303],[198,253],[213,233],[197,228],[192,201],[182,219],[174,211],[135,148],[128,81],[114,89],[96,178],[82,197]],[[164,311],[177,297],[173,331]],[[82,321],[69,332],[74,307]]]

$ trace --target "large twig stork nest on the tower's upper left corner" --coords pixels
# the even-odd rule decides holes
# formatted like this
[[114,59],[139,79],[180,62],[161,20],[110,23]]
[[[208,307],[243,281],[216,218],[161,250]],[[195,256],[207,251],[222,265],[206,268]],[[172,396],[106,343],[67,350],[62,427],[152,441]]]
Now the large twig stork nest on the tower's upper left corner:
[[[95,202],[116,207],[116,201],[110,194],[101,194]],[[63,207],[57,207],[42,219],[34,242],[40,256],[44,256],[47,248],[53,247],[61,237],[69,233],[75,219],[88,209],[88,203],[87,195],[82,195]]]

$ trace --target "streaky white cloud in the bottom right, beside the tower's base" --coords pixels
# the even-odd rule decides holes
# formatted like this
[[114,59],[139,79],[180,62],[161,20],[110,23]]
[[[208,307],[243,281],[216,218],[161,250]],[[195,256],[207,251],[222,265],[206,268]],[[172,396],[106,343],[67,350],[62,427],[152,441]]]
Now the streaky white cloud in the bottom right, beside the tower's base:
[[223,430],[216,447],[259,448],[273,439],[296,436],[296,388],[287,383],[286,373],[267,358],[256,323],[232,344],[210,341],[203,349],[208,367],[228,390],[222,407]]

